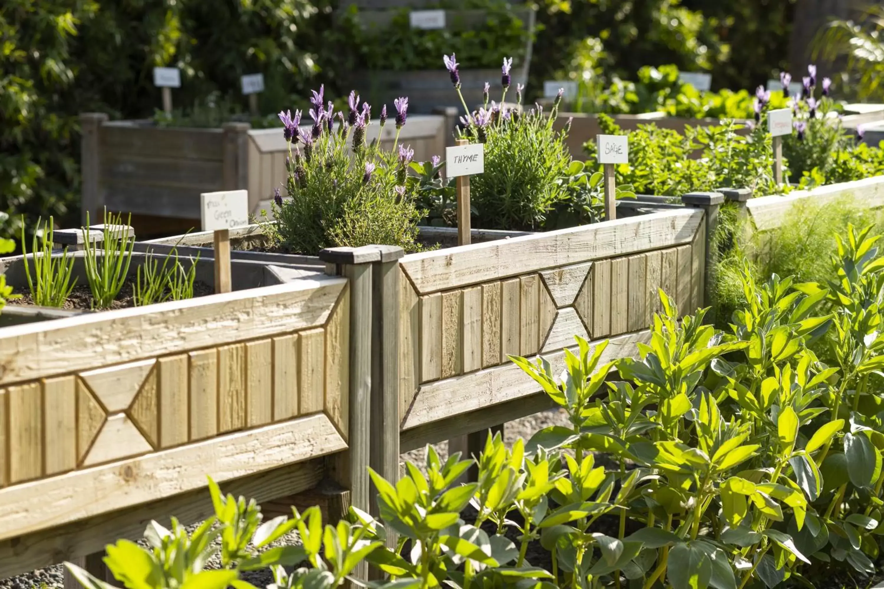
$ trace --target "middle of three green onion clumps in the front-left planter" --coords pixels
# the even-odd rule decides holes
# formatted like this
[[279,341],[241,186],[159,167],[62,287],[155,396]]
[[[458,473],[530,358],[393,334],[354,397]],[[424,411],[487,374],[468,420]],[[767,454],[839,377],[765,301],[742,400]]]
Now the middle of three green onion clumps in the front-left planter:
[[[128,226],[132,215],[126,222]],[[89,238],[89,215],[86,215],[86,244],[84,245],[84,262],[89,290],[92,291],[92,306],[98,309],[110,309],[111,304],[129,272],[132,262],[132,251],[135,240],[130,239],[122,231],[123,215],[114,215],[104,211],[104,228],[101,245],[93,243]]]

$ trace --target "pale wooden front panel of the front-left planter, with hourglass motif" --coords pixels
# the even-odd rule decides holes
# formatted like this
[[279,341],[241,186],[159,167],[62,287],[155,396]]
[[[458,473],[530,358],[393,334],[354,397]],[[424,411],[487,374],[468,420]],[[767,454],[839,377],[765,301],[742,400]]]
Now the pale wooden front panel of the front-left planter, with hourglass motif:
[[345,449],[349,313],[322,277],[0,329],[0,540]]

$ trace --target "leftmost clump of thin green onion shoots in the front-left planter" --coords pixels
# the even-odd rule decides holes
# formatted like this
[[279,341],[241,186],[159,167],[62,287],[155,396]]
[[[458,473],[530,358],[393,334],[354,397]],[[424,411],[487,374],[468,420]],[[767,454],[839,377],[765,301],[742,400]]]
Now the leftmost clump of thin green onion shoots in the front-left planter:
[[[37,221],[39,228],[40,221]],[[71,295],[77,280],[71,280],[73,272],[73,257],[68,257],[67,248],[60,256],[52,255],[52,217],[49,223],[43,223],[42,236],[34,237],[31,241],[31,260],[34,261],[34,276],[31,276],[31,268],[27,263],[27,247],[25,246],[25,223],[21,223],[21,253],[25,266],[27,288],[31,291],[34,305],[39,306],[65,306],[65,301]]]

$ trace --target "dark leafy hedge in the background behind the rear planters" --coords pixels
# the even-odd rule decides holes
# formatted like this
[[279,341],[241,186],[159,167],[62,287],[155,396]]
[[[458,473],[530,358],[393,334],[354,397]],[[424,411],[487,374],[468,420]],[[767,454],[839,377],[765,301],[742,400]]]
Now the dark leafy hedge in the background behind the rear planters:
[[[795,0],[545,0],[529,91],[587,60],[634,77],[645,64],[711,71],[716,87],[752,87],[784,65]],[[359,51],[334,30],[335,0],[4,0],[0,7],[0,237],[79,219],[77,115],[150,117],[152,68],[182,70],[176,106],[246,108],[243,73],[263,72],[263,112],[308,87],[331,94]],[[456,51],[456,47],[452,48]],[[364,51],[363,51],[364,52]],[[440,57],[441,58],[441,57]],[[583,66],[583,65],[581,65]],[[441,67],[441,61],[440,61]]]

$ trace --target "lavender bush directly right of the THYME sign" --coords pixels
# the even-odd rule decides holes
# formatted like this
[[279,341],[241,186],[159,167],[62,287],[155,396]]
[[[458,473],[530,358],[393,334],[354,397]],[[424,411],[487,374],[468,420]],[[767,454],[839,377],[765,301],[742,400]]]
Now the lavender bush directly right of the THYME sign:
[[[484,143],[484,173],[470,180],[470,196],[476,207],[476,226],[486,229],[537,230],[545,226],[556,203],[568,198],[568,186],[558,180],[568,176],[571,157],[565,138],[568,128],[555,131],[561,93],[545,115],[541,106],[522,109],[522,87],[516,87],[515,104],[507,104],[513,60],[504,58],[501,68],[500,103],[470,109],[461,94],[459,64],[455,55],[443,59],[455,92],[466,111],[461,117],[461,138]],[[570,126],[570,125],[568,125]]]

